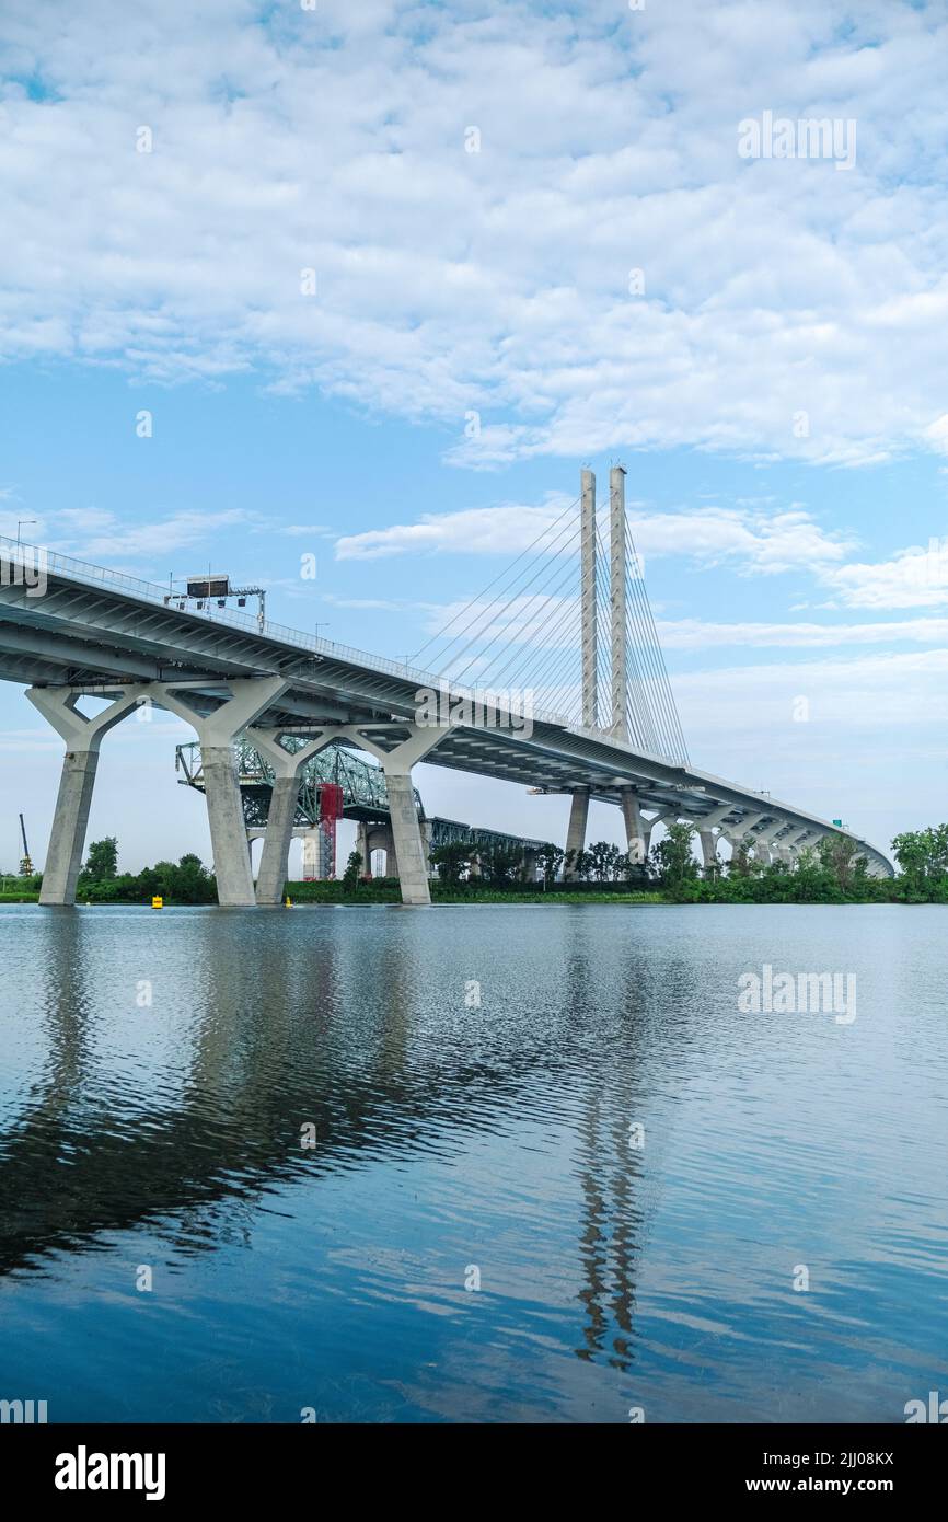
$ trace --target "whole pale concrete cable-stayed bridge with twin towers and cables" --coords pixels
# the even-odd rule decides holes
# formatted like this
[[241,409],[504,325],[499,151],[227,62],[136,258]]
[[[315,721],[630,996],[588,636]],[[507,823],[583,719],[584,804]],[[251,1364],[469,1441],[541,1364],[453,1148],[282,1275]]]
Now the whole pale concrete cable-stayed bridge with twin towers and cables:
[[[689,820],[703,860],[721,842],[793,860],[848,836],[869,871],[889,860],[849,831],[724,778],[685,750],[625,513],[625,472],[595,478],[501,578],[418,651],[397,662],[263,622],[227,598],[170,589],[37,546],[0,540],[0,679],[65,741],[41,901],[70,904],[85,846],[99,747],[142,705],[186,720],[222,904],[277,904],[306,764],[332,746],[373,756],[385,776],[391,848],[409,904],[431,901],[412,769],[432,766],[571,798],[566,848],[581,849],[590,799],[616,804],[628,854],[656,825]],[[90,699],[100,706],[90,708]],[[85,711],[81,706],[85,700]],[[272,778],[254,889],[236,770],[245,738]]]

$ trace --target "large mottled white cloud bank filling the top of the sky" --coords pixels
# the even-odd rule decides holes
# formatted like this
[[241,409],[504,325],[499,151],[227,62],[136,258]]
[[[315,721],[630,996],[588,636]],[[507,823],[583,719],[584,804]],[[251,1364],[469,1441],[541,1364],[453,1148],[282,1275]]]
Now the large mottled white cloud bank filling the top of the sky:
[[[254,367],[472,466],[940,452],[946,43],[884,0],[8,0],[3,355]],[[855,169],[740,160],[767,108],[855,117]]]

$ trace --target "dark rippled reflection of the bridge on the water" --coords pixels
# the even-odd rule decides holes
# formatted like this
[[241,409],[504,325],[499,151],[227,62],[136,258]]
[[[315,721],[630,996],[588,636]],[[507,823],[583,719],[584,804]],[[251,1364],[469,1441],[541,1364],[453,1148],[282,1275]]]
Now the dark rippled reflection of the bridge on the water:
[[[519,944],[513,982],[484,965],[484,922],[467,948],[455,945],[458,918],[441,922],[443,936],[397,910],[303,910],[265,927],[204,910],[17,919],[26,954],[8,976],[3,1027],[29,1056],[0,1103],[2,1275],[59,1275],[137,1231],[157,1233],[178,1262],[234,1231],[251,1245],[260,1208],[289,1219],[300,1190],[318,1199],[335,1175],[418,1157],[458,1170],[478,1138],[493,1148],[528,1116],[534,1161],[548,1151],[577,1189],[574,1350],[628,1367],[642,1219],[628,1129],[645,1108],[636,1073],[654,1008],[635,944],[603,1049],[601,979],[581,919],[565,941]],[[551,1094],[560,1113],[548,1113]],[[312,1151],[300,1145],[307,1125]],[[458,1196],[452,1213],[463,1210]],[[496,1288],[505,1271],[478,1233],[472,1219],[461,1257],[479,1260]],[[440,1275],[435,1254],[429,1294]]]

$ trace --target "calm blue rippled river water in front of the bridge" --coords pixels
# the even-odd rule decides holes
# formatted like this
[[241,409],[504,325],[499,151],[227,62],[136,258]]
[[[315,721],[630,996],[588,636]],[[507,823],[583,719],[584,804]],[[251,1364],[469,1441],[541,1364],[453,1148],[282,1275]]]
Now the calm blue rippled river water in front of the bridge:
[[5,907],[0,1399],[904,1422],[948,1394],[946,925]]

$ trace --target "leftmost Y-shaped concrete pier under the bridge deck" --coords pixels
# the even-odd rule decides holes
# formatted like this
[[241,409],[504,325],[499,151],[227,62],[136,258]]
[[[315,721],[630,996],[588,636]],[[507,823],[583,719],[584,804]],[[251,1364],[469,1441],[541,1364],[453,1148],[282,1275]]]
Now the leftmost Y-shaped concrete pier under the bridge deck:
[[93,718],[76,709],[82,694],[70,688],[30,686],[26,693],[33,708],[65,740],[59,793],[40,889],[41,904],[76,903],[76,881],[82,868],[99,746],[103,735],[137,706],[145,691],[145,686],[123,688],[122,696]]

